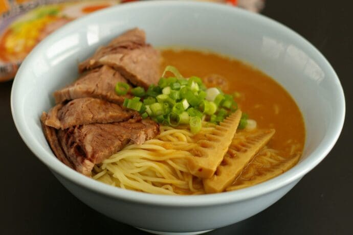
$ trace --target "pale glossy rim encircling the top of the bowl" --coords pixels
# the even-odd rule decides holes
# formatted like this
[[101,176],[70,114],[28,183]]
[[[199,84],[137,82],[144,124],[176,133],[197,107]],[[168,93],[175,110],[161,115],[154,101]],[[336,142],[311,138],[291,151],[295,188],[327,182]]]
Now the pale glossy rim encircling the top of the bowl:
[[[204,206],[204,205],[216,205],[216,204],[227,204],[233,203],[236,201],[247,200],[250,198],[254,198],[263,194],[271,193],[281,187],[288,185],[295,180],[300,180],[307,172],[311,171],[318,163],[329,153],[329,151],[334,147],[337,139],[342,131],[344,117],[345,117],[345,99],[343,88],[338,79],[337,74],[333,67],[329,64],[326,58],[305,38],[300,36],[298,33],[294,32],[290,28],[282,25],[281,23],[260,14],[248,12],[246,10],[242,10],[235,7],[229,7],[222,4],[214,4],[214,3],[205,3],[205,2],[184,2],[184,1],[146,1],[146,2],[137,2],[137,3],[128,3],[123,5],[117,5],[114,7],[110,7],[107,9],[103,9],[97,12],[94,12],[90,15],[81,17],[76,19],[62,28],[58,29],[43,41],[50,40],[54,38],[56,34],[60,32],[64,32],[66,30],[75,29],[77,26],[81,25],[85,21],[90,20],[95,17],[104,17],[105,14],[109,12],[119,12],[130,9],[141,9],[145,7],[159,7],[166,6],[169,7],[197,7],[197,8],[212,8],[213,11],[223,11],[227,14],[239,14],[241,17],[245,18],[253,18],[255,20],[261,21],[265,26],[276,27],[279,31],[284,32],[291,37],[297,38],[299,41],[302,41],[302,45],[305,46],[308,50],[312,50],[320,60],[325,64],[328,68],[329,76],[334,79],[334,82],[337,84],[338,93],[340,97],[337,99],[337,103],[339,105],[338,110],[340,113],[337,114],[337,124],[335,128],[332,130],[333,133],[330,133],[330,136],[327,137],[327,133],[322,140],[325,142],[326,147],[324,148],[316,148],[312,154],[308,155],[308,157],[302,161],[300,161],[296,166],[294,166],[289,171],[274,177],[268,181],[246,187],[245,189],[240,189],[236,191],[223,192],[217,194],[209,194],[209,195],[193,195],[193,196],[170,196],[170,195],[155,195],[148,194],[143,192],[136,192],[131,190],[121,189],[119,187],[113,187],[110,185],[106,185],[97,180],[87,178],[86,176],[81,175],[80,173],[73,171],[72,169],[65,166],[61,163],[55,155],[50,151],[47,151],[40,145],[35,145],[32,143],[31,138],[35,137],[30,133],[29,130],[26,129],[25,117],[20,115],[18,103],[18,97],[20,94],[17,92],[17,87],[20,86],[20,82],[24,79],[27,64],[31,61],[36,54],[38,54],[42,48],[43,42],[40,42],[36,45],[36,47],[32,50],[32,52],[27,56],[22,65],[20,66],[16,77],[14,79],[12,90],[11,90],[11,112],[13,116],[13,120],[17,131],[19,132],[21,138],[24,140],[29,149],[41,160],[45,165],[47,165],[50,170],[56,172],[60,176],[68,179],[75,184],[78,184],[85,189],[91,190],[98,194],[104,194],[105,196],[121,199],[129,202],[137,202],[137,203],[146,203],[160,206],[177,206],[177,207],[189,207],[189,206]],[[20,102],[19,102],[20,104]],[[38,117],[39,118],[39,117]],[[327,137],[327,138],[326,138]],[[322,143],[321,142],[321,143]],[[320,143],[320,144],[321,144]],[[61,164],[60,164],[61,163]]]

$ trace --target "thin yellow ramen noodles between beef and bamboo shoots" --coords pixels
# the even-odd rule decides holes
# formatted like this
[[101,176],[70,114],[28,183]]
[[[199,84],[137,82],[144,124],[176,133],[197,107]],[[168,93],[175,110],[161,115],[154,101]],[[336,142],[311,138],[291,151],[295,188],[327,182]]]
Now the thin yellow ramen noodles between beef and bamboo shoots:
[[[201,178],[190,173],[188,160],[197,141],[212,133],[214,124],[203,122],[197,134],[192,134],[189,127],[177,128],[161,126],[161,133],[142,145],[128,145],[93,169],[93,178],[103,183],[122,189],[135,190],[151,194],[186,195],[205,194]],[[237,141],[245,140],[240,139]],[[298,152],[300,145],[289,142],[288,151]],[[251,185],[251,180],[258,183],[257,169],[269,168],[277,162],[284,162],[278,151],[266,148],[261,151],[261,158],[254,159],[235,181],[237,187]],[[259,154],[260,155],[260,154]],[[234,184],[233,184],[234,185]],[[227,189],[230,190],[230,189]]]

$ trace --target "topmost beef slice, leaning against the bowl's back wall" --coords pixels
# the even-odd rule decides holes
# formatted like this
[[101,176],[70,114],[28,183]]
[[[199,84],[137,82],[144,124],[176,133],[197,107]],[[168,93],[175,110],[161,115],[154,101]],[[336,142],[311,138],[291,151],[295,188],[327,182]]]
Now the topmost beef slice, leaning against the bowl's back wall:
[[99,48],[91,58],[79,64],[79,70],[109,65],[134,85],[148,88],[158,83],[160,60],[160,53],[145,43],[145,32],[135,28]]

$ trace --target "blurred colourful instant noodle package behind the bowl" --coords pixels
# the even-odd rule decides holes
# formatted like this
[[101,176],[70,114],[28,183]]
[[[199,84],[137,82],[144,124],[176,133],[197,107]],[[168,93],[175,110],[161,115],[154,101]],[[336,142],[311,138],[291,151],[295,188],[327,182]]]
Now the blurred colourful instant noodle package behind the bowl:
[[[132,1],[0,0],[0,81],[14,78],[28,53],[56,29],[83,15]],[[262,0],[209,2],[240,6],[251,11],[258,11],[263,5]]]

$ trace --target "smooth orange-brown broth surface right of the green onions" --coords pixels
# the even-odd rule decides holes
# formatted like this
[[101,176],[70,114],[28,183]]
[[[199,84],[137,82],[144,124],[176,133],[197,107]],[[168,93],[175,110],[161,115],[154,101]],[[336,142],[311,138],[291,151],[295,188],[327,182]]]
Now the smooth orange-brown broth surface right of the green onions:
[[[249,119],[255,120],[260,129],[276,130],[268,148],[276,150],[285,160],[301,155],[305,140],[303,117],[293,98],[271,77],[245,63],[213,53],[165,49],[161,54],[161,69],[173,65],[185,77],[204,78],[211,74],[224,77],[228,87],[223,91],[240,93],[235,100],[238,107],[249,114]],[[257,169],[253,174],[259,175],[261,172],[261,169]],[[238,181],[235,184],[241,183],[239,178]]]

